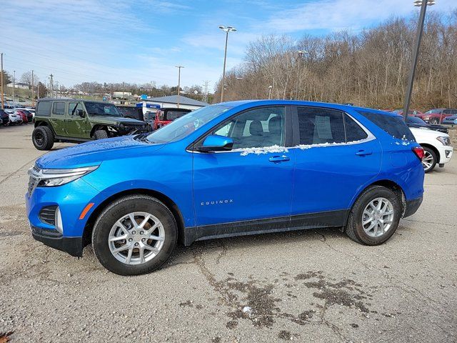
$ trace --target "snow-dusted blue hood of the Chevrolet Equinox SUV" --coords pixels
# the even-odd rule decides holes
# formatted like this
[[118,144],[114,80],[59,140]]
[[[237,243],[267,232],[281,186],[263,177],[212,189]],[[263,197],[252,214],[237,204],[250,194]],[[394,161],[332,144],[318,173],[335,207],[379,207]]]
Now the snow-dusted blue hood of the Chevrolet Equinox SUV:
[[136,141],[134,136],[120,136],[70,146],[51,151],[36,160],[36,166],[44,169],[67,169],[95,166],[102,161],[124,159],[144,155],[161,149],[164,144],[148,144]]

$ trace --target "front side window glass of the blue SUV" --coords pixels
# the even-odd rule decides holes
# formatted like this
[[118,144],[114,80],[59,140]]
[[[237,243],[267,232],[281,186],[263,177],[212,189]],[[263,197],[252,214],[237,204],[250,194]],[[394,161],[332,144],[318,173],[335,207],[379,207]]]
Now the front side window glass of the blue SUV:
[[283,146],[285,113],[283,106],[251,109],[224,122],[211,134],[233,139],[233,149]]

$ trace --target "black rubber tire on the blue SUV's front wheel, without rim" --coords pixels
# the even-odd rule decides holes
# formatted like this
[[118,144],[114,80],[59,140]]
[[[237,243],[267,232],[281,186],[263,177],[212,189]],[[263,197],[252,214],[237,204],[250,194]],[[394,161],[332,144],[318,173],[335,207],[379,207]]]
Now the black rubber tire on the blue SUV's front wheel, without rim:
[[[111,227],[122,217],[131,212],[153,214],[164,227],[164,245],[156,256],[142,264],[126,264],[111,254],[109,233]],[[92,232],[92,246],[99,262],[110,272],[119,275],[139,275],[153,272],[170,257],[178,240],[178,226],[168,207],[154,197],[147,195],[130,195],[112,202],[99,215]]]

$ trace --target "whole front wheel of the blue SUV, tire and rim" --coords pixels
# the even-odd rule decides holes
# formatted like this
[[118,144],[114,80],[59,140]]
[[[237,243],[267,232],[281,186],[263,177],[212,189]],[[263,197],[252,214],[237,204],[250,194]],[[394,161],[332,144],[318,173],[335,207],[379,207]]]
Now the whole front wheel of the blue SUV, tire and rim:
[[170,210],[146,195],[122,197],[100,214],[92,232],[99,262],[119,275],[153,272],[176,246],[178,227]]

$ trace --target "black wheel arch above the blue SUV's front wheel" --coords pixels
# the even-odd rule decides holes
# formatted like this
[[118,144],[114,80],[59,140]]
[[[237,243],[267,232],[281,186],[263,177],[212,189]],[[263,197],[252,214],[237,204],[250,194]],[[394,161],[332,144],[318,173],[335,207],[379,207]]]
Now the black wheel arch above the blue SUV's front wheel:
[[116,199],[125,197],[127,195],[133,195],[133,194],[149,195],[150,197],[154,197],[154,198],[158,199],[160,202],[163,202],[166,205],[166,207],[169,208],[169,210],[171,211],[171,213],[173,214],[173,216],[176,220],[176,224],[178,225],[178,239],[184,239],[184,218],[181,214],[181,210],[176,205],[176,203],[161,192],[157,192],[153,189],[136,188],[136,189],[127,189],[122,192],[112,194],[110,197],[104,199],[104,201],[101,202],[94,209],[94,211],[92,211],[92,213],[90,214],[90,216],[87,219],[86,224],[84,226],[83,242],[82,242],[83,248],[86,247],[86,245],[91,244],[92,231],[94,229],[94,224],[96,222],[96,219],[99,217],[99,214],[101,214],[101,212],[103,212],[103,210],[109,204],[111,204],[111,202],[114,202]]

